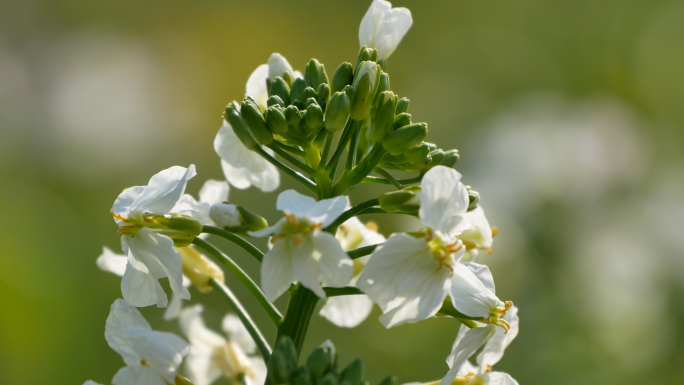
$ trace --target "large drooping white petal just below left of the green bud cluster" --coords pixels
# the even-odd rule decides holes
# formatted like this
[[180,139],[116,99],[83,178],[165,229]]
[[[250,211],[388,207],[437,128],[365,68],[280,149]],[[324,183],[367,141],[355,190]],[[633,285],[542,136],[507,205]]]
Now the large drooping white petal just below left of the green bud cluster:
[[[264,192],[278,188],[280,174],[275,166],[247,149],[225,120],[214,139],[214,150],[221,158],[226,180],[236,188],[246,189],[254,185]],[[264,148],[264,151],[272,154],[269,148]]]

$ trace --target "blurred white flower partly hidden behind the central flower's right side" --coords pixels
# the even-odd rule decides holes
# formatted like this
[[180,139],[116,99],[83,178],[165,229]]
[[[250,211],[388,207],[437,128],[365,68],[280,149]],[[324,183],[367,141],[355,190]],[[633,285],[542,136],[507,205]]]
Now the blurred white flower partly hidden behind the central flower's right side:
[[[385,237],[377,232],[375,223],[369,222],[364,225],[356,217],[340,225],[336,238],[344,251],[385,242]],[[361,269],[368,262],[368,258],[366,256],[354,260],[355,274],[349,281],[349,286],[356,285]],[[353,328],[363,322],[372,309],[373,302],[367,295],[345,295],[328,298],[319,314],[339,327]]]

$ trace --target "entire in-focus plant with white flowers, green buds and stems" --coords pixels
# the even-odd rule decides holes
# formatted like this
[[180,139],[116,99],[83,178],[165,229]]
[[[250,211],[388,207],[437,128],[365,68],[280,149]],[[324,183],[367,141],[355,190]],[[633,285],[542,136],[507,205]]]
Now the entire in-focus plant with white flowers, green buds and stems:
[[[163,170],[146,186],[119,195],[111,214],[123,254],[105,248],[97,260],[122,277],[123,299],[112,305],[105,337],[126,366],[112,383],[208,385],[221,377],[241,385],[361,383],[356,361],[335,371],[331,343],[315,350],[307,366],[297,366],[309,320],[324,301],[320,315],[340,327],[359,325],[374,304],[387,328],[451,317],[460,330],[440,384],[516,384],[491,371],[518,331],[517,309],[497,297],[489,268],[477,262],[491,252],[496,229],[477,192],[454,169],[458,151],[425,142],[427,124],[413,122],[408,98],[390,88],[386,60],[411,24],[407,9],[373,1],[359,29],[356,64],[341,64],[332,77],[315,59],[301,73],[282,55],[271,55],[249,77],[245,98],[226,107],[214,141],[226,181],[208,180],[199,200],[185,194],[196,175],[193,165]],[[394,170],[415,175],[397,179]],[[229,201],[229,184],[270,192],[281,172],[309,195],[281,192],[276,208],[283,216],[272,226]],[[352,204],[348,192],[366,183],[388,191]],[[374,222],[359,219],[365,214],[412,215],[423,228],[385,238]],[[261,284],[209,235],[259,261]],[[260,238],[267,239],[265,253],[251,243]],[[219,264],[273,321],[275,350],[226,285]],[[217,292],[228,302],[233,314],[223,319],[225,334],[205,324],[202,305],[184,304],[190,289]],[[290,298],[282,315],[273,301],[285,293]],[[177,319],[189,342],[153,331],[137,310],[150,305],[167,307],[164,318]],[[475,366],[468,359],[482,346]],[[183,361],[188,378],[178,374]]]

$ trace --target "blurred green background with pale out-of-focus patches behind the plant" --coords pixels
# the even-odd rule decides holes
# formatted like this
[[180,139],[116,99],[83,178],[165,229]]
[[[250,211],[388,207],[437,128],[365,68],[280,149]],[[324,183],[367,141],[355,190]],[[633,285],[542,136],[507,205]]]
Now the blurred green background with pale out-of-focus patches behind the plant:
[[[252,70],[272,52],[329,74],[354,62],[369,3],[0,0],[0,383],[109,383],[120,281],[95,258],[118,250],[114,198],[171,165],[197,165],[191,193],[220,179],[221,111]],[[684,3],[394,4],[414,25],[389,60],[392,89],[430,141],[460,150],[500,230],[483,261],[521,332],[497,369],[521,384],[684,382]],[[271,220],[275,197],[231,191]],[[372,219],[386,234],[412,225]],[[192,294],[218,327],[225,304]],[[377,316],[353,330],[315,317],[305,351],[331,338],[372,382],[444,375],[453,320],[385,330]]]

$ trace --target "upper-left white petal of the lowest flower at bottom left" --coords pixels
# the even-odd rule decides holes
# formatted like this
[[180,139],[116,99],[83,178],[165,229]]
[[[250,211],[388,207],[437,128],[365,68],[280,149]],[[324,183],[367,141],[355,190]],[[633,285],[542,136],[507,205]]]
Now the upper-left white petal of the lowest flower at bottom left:
[[122,299],[117,299],[107,317],[105,339],[109,346],[123,357],[127,365],[137,365],[140,363],[140,356],[131,345],[126,332],[130,327],[152,330],[138,309]]

